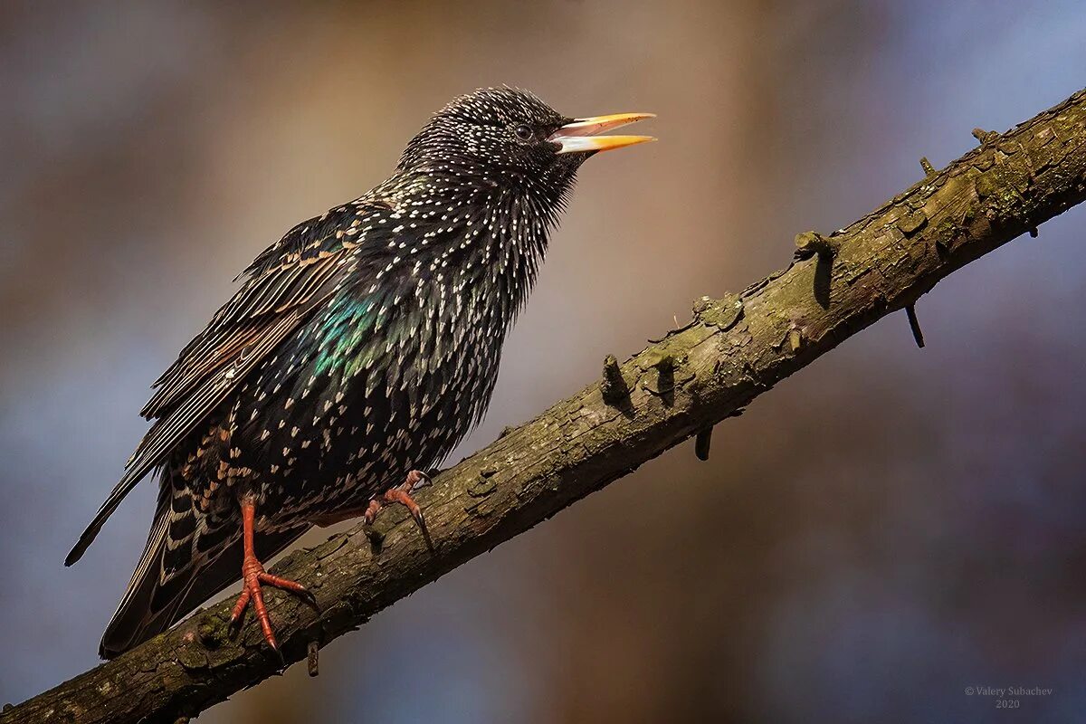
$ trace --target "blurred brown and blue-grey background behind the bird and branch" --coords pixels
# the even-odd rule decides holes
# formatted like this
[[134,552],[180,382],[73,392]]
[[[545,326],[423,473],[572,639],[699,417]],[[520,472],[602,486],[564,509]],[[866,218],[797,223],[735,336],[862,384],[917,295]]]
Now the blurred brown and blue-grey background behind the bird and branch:
[[[1084,85],[1078,2],[4,3],[0,702],[96,663],[148,385],[479,86],[654,111],[590,162],[452,460]],[[1033,722],[1086,708],[1086,208],[201,722]],[[556,355],[555,351],[561,353]],[[659,505],[667,500],[666,505]],[[649,515],[652,511],[652,515]],[[323,539],[317,533],[306,543]],[[968,686],[1053,689],[995,711]]]

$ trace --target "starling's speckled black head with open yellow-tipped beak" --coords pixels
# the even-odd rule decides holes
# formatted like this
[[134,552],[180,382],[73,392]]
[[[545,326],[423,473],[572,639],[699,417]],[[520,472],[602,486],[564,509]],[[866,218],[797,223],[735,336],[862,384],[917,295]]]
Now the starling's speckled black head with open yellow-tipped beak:
[[585,158],[655,140],[601,134],[651,117],[620,113],[570,118],[523,90],[480,89],[430,118],[408,143],[400,170],[438,176],[468,191],[530,194],[551,212],[560,205]]

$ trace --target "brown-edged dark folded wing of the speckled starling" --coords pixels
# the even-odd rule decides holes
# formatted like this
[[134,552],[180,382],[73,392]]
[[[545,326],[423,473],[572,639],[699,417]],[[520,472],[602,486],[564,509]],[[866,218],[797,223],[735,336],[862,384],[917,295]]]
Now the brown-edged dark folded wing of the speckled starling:
[[[154,383],[155,420],[125,473],[65,561],[83,556],[121,500],[233,391],[350,274],[356,230],[382,202],[358,201],[299,224],[242,272],[241,289]],[[240,278],[240,277],[239,277]]]

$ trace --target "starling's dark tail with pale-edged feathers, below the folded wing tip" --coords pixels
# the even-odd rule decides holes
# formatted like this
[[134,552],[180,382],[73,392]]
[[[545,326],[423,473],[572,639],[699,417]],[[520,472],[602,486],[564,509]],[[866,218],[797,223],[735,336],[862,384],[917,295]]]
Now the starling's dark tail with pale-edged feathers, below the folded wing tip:
[[[198,531],[191,503],[172,500],[180,491],[175,488],[169,495],[168,484],[163,487],[165,494],[160,498],[143,555],[102,636],[99,655],[103,659],[112,659],[165,631],[241,577],[240,519],[236,526],[232,521],[224,521],[218,530]],[[257,556],[269,559],[308,528],[306,524],[257,534]]]

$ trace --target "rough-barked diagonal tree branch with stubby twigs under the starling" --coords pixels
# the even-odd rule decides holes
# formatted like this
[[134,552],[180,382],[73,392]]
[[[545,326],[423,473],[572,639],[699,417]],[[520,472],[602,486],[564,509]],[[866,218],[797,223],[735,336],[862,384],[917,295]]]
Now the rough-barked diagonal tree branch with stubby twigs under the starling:
[[[1086,198],[1086,90],[935,172],[846,229],[797,238],[796,261],[740,294],[695,303],[694,319],[441,473],[420,496],[437,554],[403,515],[288,556],[317,613],[270,595],[294,662],[460,563],[698,435],[940,279]],[[902,321],[902,333],[904,319]],[[917,327],[919,329],[919,327]],[[124,656],[0,714],[0,723],[176,721],[278,672],[229,602],[198,611]],[[315,657],[310,656],[311,666]]]

